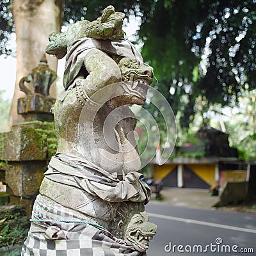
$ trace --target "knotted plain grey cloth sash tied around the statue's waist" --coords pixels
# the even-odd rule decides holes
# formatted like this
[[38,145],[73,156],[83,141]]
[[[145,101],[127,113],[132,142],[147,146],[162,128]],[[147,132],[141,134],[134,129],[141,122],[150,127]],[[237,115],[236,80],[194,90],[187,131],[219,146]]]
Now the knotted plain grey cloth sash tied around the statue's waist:
[[124,180],[111,174],[85,159],[71,154],[58,153],[52,157],[45,177],[55,182],[83,189],[108,202],[145,202],[148,203],[151,190],[139,172],[130,172]]

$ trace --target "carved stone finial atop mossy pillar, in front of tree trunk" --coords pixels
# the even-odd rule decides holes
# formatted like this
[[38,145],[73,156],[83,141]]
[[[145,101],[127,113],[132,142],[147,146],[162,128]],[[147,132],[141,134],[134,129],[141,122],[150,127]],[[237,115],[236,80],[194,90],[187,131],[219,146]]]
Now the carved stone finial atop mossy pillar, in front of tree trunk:
[[53,121],[50,110],[55,99],[49,96],[49,90],[56,78],[57,74],[49,68],[44,54],[38,67],[20,79],[20,91],[26,93],[26,98],[18,99],[18,113],[26,121]]

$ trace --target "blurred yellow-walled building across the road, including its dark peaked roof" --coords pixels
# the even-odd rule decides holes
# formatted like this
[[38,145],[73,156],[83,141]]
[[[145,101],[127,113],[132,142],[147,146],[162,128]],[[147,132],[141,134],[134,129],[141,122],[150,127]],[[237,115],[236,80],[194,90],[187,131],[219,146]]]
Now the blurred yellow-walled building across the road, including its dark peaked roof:
[[[227,181],[245,181],[250,175],[250,164],[238,158],[236,148],[228,144],[228,134],[210,126],[196,132],[200,143],[176,148],[175,157],[163,165],[153,159],[151,174],[154,179],[163,180],[167,187],[179,188],[223,188]],[[185,157],[196,152],[204,157]]]

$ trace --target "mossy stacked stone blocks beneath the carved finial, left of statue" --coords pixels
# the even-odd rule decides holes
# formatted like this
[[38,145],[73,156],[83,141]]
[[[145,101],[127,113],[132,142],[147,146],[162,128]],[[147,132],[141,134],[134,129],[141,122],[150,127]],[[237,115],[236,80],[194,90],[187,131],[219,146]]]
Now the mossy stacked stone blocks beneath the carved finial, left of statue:
[[0,181],[10,203],[24,205],[28,216],[56,147],[53,122],[24,122],[0,134]]

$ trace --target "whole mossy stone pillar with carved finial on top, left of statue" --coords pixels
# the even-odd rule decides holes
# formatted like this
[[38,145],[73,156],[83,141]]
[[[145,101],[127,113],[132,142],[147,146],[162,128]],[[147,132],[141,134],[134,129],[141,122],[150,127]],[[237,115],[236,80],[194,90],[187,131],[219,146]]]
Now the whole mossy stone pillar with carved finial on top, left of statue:
[[13,125],[0,134],[0,181],[6,184],[10,203],[22,204],[31,215],[33,203],[51,156],[56,152],[51,107],[55,102],[49,89],[56,73],[45,56],[38,67],[20,80],[20,90],[27,97],[18,100],[18,113],[26,122]]

